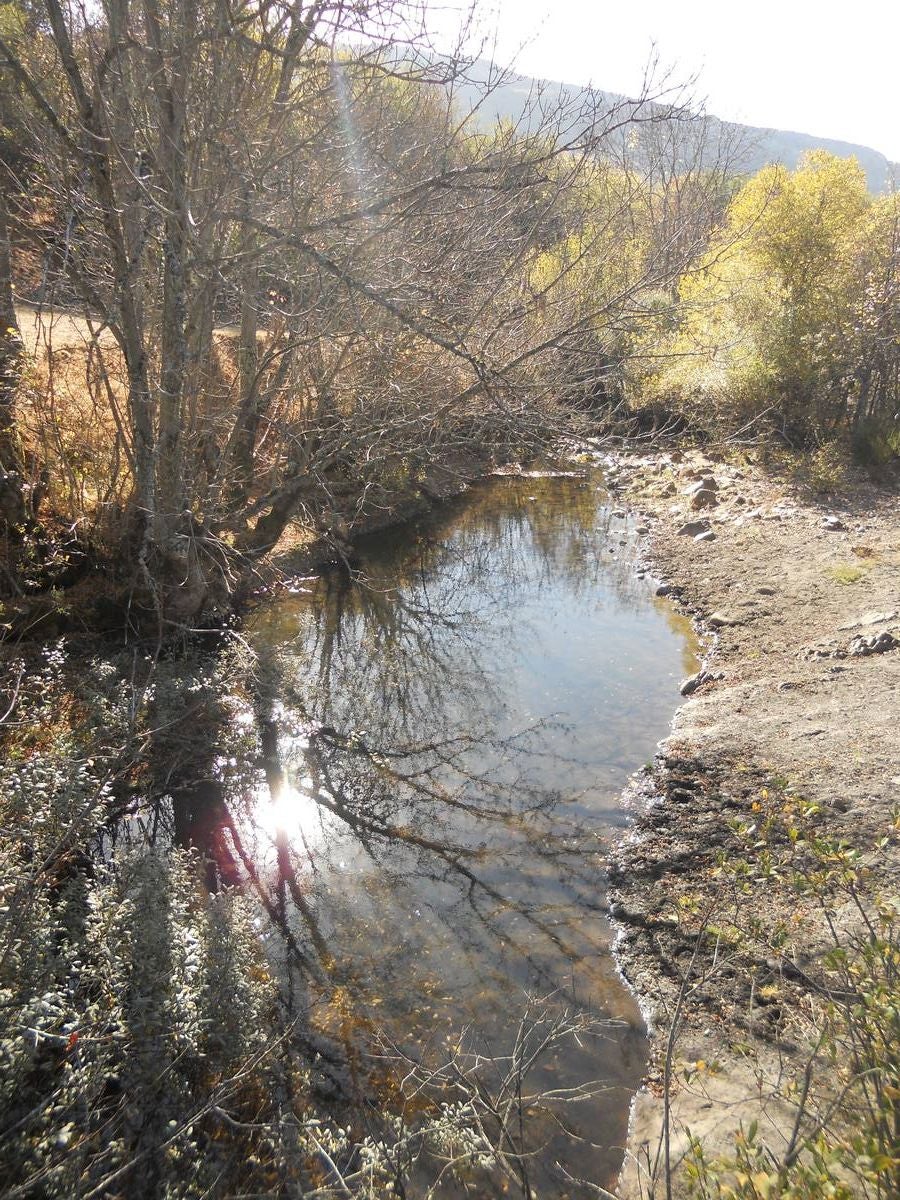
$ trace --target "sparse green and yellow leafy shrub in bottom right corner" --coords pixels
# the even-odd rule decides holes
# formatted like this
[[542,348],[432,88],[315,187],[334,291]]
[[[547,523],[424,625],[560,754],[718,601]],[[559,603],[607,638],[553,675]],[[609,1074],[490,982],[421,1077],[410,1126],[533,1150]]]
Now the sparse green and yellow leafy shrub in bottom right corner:
[[[732,820],[733,846],[713,870],[727,899],[677,898],[683,935],[704,943],[683,996],[715,988],[720,973],[749,979],[760,1022],[775,1013],[784,1060],[776,1070],[756,1062],[760,1112],[731,1147],[710,1153],[689,1138],[679,1182],[694,1200],[882,1200],[900,1181],[898,900],[871,853],[823,828],[818,805],[790,781],[761,788],[752,810],[752,820]],[[899,829],[895,815],[878,856]],[[761,888],[779,894],[790,919],[760,919]],[[750,1039],[744,1054],[754,1061]],[[721,1064],[677,1069],[690,1086]]]

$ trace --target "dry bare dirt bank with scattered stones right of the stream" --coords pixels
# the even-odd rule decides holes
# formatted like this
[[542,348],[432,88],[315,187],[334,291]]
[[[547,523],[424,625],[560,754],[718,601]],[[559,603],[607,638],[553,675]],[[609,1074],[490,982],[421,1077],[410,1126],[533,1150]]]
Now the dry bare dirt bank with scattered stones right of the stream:
[[622,967],[656,1032],[622,1181],[631,1198],[653,1195],[664,1169],[673,1019],[673,1165],[688,1129],[720,1150],[740,1121],[761,1117],[775,1145],[793,1126],[784,1085],[815,1037],[828,931],[758,851],[739,886],[722,871],[745,852],[739,826],[803,798],[817,829],[896,886],[896,845],[878,841],[900,800],[900,503],[859,482],[817,503],[695,452],[622,458],[611,479],[642,514],[654,574],[707,635],[708,672],[636,782],[612,866]]

